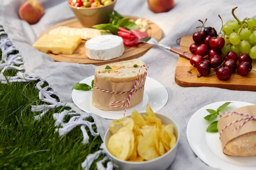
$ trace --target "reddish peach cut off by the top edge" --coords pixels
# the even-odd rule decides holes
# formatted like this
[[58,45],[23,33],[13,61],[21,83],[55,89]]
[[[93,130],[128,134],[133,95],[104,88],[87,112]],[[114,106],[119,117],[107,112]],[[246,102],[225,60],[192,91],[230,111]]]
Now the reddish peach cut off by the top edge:
[[155,13],[166,12],[174,7],[174,0],[148,0],[148,7]]

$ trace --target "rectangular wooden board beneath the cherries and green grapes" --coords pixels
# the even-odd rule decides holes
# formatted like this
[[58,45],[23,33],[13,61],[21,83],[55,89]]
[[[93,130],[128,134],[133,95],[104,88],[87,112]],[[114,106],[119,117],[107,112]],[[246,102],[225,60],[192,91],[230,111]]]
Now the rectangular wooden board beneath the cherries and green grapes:
[[[194,43],[192,36],[183,37],[180,41],[180,49],[184,51],[189,50],[189,46]],[[253,70],[256,70],[256,60],[253,60]],[[250,73],[242,77],[237,71],[232,74],[228,80],[219,80],[216,75],[211,75],[209,77],[197,77],[199,75],[196,68],[194,68],[189,74],[192,65],[189,63],[188,59],[179,57],[177,62],[177,67],[175,70],[175,82],[177,85],[182,87],[215,87],[215,88],[226,88],[230,90],[240,90],[240,91],[256,91],[256,72],[250,71]],[[215,71],[212,71],[214,73]]]

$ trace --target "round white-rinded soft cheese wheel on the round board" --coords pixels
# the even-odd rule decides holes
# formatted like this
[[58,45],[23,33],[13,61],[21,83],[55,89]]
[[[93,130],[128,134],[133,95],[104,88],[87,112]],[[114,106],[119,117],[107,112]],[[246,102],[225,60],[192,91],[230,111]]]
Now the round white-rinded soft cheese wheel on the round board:
[[85,42],[86,55],[90,59],[110,60],[120,57],[124,51],[123,40],[116,35],[102,35]]

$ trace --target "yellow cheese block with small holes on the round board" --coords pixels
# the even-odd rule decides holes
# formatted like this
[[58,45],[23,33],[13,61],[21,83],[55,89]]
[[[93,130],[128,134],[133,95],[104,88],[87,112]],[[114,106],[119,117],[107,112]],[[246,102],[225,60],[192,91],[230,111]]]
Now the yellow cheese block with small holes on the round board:
[[73,54],[80,43],[79,35],[44,34],[32,46],[43,53]]

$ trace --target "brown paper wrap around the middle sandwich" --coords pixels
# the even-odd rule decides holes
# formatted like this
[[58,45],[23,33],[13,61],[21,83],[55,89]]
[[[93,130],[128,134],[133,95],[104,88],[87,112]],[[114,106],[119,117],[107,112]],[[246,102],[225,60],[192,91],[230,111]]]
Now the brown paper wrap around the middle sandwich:
[[[135,90],[137,90],[138,88],[141,88],[145,84],[145,80],[146,79],[144,79],[143,82],[140,83],[140,85],[138,85],[135,88]],[[131,82],[116,83],[116,82],[111,82],[109,80],[105,80],[103,78],[99,78],[96,75],[94,76],[94,84],[98,88],[101,88],[102,90],[105,90],[105,91],[111,91],[111,92],[131,91],[131,89],[135,85],[135,81],[136,81],[136,79]],[[128,108],[138,105],[143,99],[143,93],[144,93],[144,87],[142,89],[140,89],[139,91],[133,92],[133,94],[131,96],[131,100],[130,100],[130,105]],[[109,93],[100,91],[96,88],[93,88],[92,99],[95,104],[110,107],[108,110],[111,110],[111,108],[113,108],[113,110],[117,110],[117,108],[111,106],[110,103],[116,102],[116,101],[124,101],[128,98],[128,96],[129,96],[129,93],[127,93],[127,94],[109,94]],[[115,103],[114,105],[122,106],[122,105],[124,105],[124,103]],[[122,108],[118,108],[118,110],[124,110],[125,107],[126,107],[126,105]],[[99,108],[99,109],[102,109],[102,108]]]

